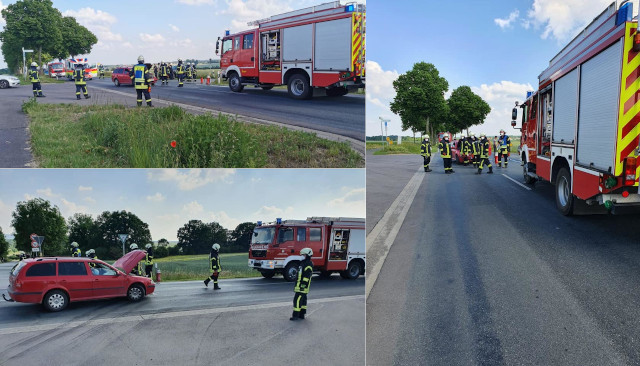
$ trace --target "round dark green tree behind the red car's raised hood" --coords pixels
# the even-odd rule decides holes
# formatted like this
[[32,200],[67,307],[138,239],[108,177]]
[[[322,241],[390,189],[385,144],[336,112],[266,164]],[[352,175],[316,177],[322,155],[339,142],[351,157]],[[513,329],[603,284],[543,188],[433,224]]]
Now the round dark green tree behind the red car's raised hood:
[[[105,258],[119,258],[122,256],[122,242],[118,234],[128,234],[125,249],[132,243],[143,248],[151,242],[149,225],[138,216],[128,211],[104,211],[96,218],[98,240],[102,241]],[[97,250],[96,250],[97,251]]]

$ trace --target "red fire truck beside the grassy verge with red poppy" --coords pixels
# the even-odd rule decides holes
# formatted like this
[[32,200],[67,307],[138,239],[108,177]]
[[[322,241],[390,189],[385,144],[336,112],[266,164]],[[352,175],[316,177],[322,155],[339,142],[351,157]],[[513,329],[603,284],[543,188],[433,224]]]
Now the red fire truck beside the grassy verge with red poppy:
[[364,87],[365,6],[334,1],[249,23],[258,28],[218,38],[222,76],[229,88],[269,90],[287,85],[295,99],[323,88],[342,96]]

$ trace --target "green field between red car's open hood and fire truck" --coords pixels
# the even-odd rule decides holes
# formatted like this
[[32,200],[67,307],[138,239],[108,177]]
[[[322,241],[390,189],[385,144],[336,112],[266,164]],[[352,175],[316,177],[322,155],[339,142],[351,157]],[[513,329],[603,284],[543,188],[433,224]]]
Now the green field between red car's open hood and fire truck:
[[[220,278],[260,277],[258,271],[249,268],[248,259],[247,253],[220,254]],[[204,280],[211,275],[207,254],[172,256],[155,262],[162,271],[162,281]]]

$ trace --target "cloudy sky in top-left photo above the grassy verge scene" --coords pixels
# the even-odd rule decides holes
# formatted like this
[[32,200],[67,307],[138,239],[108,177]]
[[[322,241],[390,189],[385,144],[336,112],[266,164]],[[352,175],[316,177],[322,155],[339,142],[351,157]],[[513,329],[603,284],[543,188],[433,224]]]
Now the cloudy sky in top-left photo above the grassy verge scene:
[[[0,0],[0,9],[15,2]],[[249,21],[323,2],[327,1],[53,0],[53,6],[98,37],[89,62],[110,65],[135,63],[140,54],[148,62],[215,59],[215,42],[225,29],[244,31],[251,28]],[[0,26],[4,26],[1,18]],[[6,63],[0,54],[2,67]]]

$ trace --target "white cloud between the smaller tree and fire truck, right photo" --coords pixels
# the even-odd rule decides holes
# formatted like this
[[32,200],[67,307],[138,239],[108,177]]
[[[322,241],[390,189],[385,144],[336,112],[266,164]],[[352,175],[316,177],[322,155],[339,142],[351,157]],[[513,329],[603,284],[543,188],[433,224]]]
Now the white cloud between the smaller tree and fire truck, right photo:
[[[531,84],[519,84],[512,81],[501,81],[491,85],[482,84],[479,87],[472,87],[471,90],[484,99],[491,106],[491,113],[487,116],[482,125],[470,128],[475,133],[484,132],[487,135],[497,135],[500,129],[507,133],[515,134],[511,129],[511,110],[515,106],[515,101],[522,102],[527,91],[534,90]],[[509,126],[509,128],[506,128]]]

